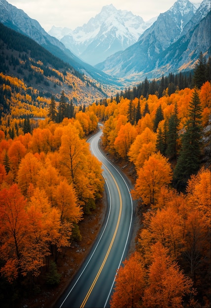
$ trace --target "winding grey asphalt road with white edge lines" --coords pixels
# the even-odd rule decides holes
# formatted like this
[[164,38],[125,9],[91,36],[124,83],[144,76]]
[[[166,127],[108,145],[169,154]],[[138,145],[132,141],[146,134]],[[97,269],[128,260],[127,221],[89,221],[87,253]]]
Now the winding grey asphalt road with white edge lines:
[[89,139],[92,153],[103,164],[107,214],[98,239],[55,307],[109,307],[116,269],[125,259],[132,233],[133,202],[129,187],[117,168],[99,149],[100,130]]

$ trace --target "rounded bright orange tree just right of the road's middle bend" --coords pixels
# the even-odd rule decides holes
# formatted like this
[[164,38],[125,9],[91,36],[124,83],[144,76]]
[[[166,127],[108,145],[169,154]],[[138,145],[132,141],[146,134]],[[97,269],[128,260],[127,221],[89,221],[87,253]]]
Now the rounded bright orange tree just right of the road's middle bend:
[[160,152],[151,155],[137,174],[132,193],[134,197],[141,198],[144,204],[154,204],[160,188],[172,181],[171,165]]

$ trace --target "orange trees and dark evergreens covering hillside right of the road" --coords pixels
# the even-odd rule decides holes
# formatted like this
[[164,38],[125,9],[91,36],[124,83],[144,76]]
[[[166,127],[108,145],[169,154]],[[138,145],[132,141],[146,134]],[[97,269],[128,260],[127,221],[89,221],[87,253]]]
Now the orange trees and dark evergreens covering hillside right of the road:
[[130,99],[107,100],[103,118],[93,106],[105,121],[103,146],[130,166],[144,213],[136,252],[117,274],[113,308],[210,306],[211,83],[202,84],[202,58],[198,87],[171,95],[166,88],[160,98],[126,91]]

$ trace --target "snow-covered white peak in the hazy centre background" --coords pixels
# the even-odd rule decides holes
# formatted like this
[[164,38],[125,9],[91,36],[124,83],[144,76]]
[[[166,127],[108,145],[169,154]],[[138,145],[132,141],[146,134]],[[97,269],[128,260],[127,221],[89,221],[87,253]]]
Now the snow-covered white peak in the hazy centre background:
[[72,53],[83,61],[95,65],[117,51],[125,50],[136,43],[156,18],[144,22],[140,16],[129,11],[117,10],[112,4],[87,24],[75,30],[52,27],[48,32],[57,37]]

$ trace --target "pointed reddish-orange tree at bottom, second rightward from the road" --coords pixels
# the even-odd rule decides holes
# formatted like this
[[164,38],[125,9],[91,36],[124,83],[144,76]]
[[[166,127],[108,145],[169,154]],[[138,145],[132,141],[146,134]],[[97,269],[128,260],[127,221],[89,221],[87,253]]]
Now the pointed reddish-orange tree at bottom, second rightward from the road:
[[192,280],[185,277],[159,242],[152,246],[152,263],[147,280],[144,308],[182,308],[184,297],[194,294]]

